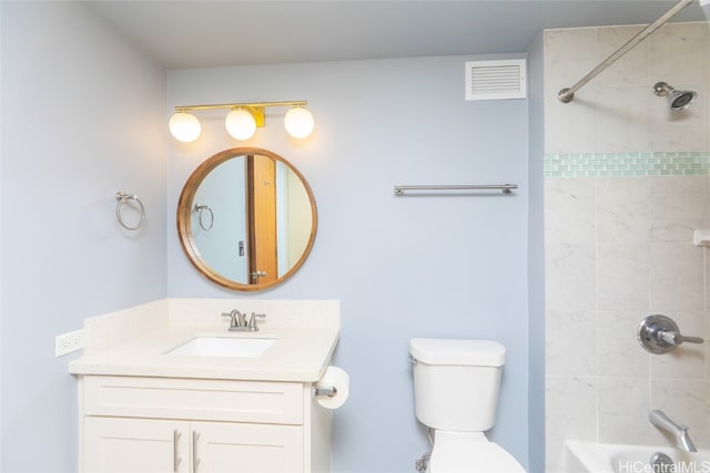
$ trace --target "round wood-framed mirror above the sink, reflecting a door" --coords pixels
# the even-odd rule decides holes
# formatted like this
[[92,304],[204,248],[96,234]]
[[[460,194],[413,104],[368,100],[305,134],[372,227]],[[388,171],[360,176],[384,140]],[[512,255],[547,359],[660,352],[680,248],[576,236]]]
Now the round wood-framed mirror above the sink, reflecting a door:
[[266,150],[236,147],[206,160],[178,203],[178,235],[192,265],[235,290],[258,290],[305,261],[317,226],[308,183]]

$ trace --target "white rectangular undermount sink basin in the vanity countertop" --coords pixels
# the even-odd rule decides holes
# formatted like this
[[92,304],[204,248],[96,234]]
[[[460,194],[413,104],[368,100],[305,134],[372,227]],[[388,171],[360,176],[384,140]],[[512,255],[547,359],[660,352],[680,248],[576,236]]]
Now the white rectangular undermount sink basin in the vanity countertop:
[[195,337],[165,354],[257,358],[268,350],[274,341],[273,338]]

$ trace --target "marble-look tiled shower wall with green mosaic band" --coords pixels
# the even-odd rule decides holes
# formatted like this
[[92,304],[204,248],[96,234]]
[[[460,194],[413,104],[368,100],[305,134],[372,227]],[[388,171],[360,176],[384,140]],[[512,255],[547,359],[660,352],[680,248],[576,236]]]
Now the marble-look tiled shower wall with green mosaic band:
[[[642,27],[545,32],[547,471],[568,439],[668,444],[663,409],[710,448],[710,343],[649,354],[649,313],[710,338],[710,28],[662,27],[584,89],[557,100]],[[681,113],[652,93],[694,90]]]

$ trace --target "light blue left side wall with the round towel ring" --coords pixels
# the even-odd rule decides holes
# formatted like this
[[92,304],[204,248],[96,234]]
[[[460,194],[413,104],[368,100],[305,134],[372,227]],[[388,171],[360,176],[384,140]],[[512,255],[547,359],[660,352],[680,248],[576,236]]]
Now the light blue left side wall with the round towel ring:
[[[165,297],[165,74],[78,2],[0,2],[2,464],[77,471],[54,337]],[[115,218],[136,193],[143,229]]]

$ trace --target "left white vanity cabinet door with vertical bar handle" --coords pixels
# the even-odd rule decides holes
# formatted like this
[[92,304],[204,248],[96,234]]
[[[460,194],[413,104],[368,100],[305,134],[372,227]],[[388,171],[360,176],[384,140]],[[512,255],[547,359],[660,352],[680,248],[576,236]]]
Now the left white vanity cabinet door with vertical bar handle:
[[84,418],[83,471],[189,473],[187,422]]

